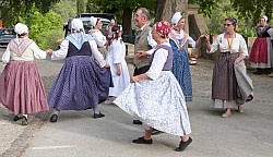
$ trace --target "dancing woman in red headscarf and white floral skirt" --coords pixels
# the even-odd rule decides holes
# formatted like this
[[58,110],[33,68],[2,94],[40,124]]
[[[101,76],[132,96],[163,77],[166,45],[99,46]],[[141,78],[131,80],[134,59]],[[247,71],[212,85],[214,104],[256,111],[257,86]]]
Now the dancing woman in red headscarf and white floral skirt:
[[158,131],[180,136],[177,152],[183,150],[191,142],[191,126],[183,93],[174,74],[173,50],[167,38],[170,25],[166,21],[153,26],[152,36],[157,48],[150,56],[136,53],[138,58],[150,58],[150,70],[131,77],[131,84],[114,100],[122,110],[138,117],[145,126],[145,135],[133,140],[136,144],[153,144],[151,134]]

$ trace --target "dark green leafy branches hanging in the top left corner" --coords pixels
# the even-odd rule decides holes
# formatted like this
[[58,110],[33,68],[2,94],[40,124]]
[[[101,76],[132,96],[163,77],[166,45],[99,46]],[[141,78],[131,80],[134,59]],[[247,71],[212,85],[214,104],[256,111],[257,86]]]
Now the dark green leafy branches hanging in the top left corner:
[[41,12],[49,11],[51,5],[59,0],[0,0],[0,20],[7,26],[12,26],[19,21],[19,16],[24,16],[35,4]]

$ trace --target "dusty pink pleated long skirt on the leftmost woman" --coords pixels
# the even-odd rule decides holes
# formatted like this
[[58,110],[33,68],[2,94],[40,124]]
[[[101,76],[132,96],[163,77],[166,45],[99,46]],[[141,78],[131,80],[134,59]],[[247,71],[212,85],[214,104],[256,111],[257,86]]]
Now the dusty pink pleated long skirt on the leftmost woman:
[[14,114],[49,110],[34,61],[10,61],[0,76],[0,101]]

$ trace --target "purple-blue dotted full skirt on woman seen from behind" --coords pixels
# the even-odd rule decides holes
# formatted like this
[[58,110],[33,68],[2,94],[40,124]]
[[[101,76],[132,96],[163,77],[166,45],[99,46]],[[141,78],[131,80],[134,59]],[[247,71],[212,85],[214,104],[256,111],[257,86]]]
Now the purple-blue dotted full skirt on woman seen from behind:
[[110,69],[99,68],[91,57],[70,57],[48,96],[58,110],[85,110],[105,101],[112,86]]

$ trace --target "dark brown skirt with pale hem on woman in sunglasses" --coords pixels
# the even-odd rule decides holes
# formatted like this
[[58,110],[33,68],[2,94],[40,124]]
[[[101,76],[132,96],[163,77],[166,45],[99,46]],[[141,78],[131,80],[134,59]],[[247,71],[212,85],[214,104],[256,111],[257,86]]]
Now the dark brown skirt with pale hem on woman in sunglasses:
[[214,64],[212,78],[212,99],[214,108],[236,106],[238,83],[234,62],[240,53],[222,53]]

